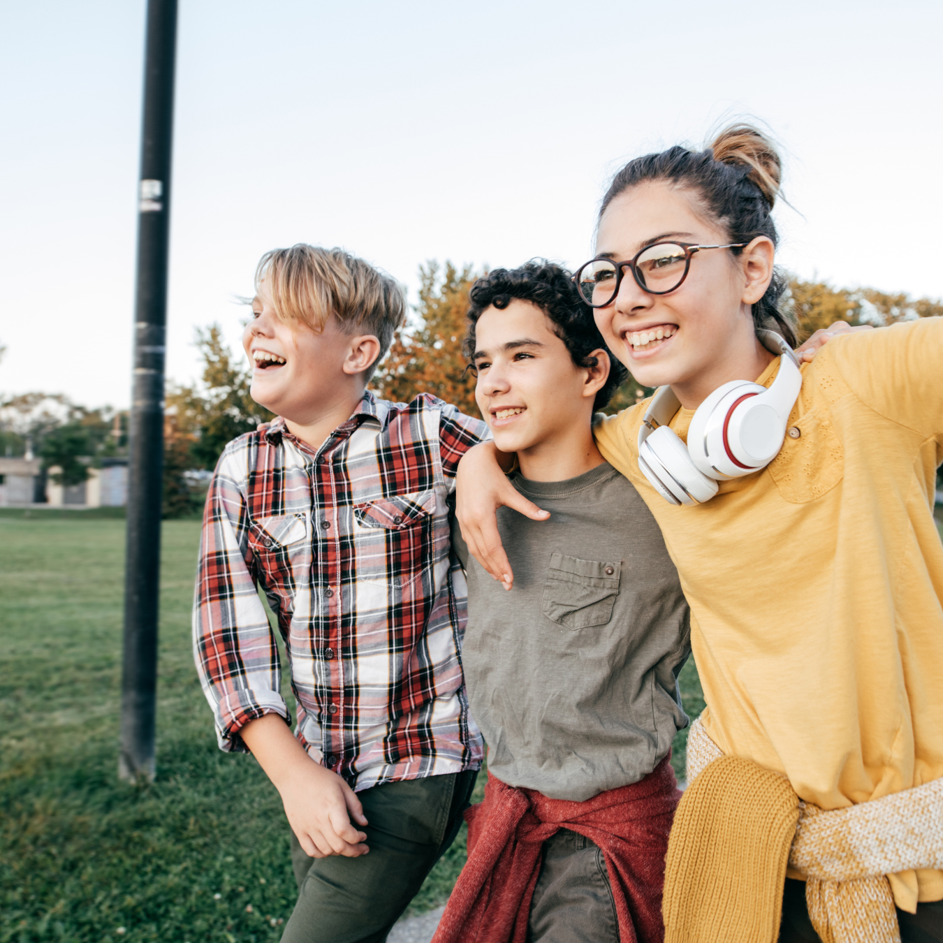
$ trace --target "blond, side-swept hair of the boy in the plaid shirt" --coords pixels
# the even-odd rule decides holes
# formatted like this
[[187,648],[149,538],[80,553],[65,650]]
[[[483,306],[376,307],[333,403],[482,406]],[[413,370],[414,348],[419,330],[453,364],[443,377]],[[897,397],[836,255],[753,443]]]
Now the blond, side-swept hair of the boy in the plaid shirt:
[[256,290],[263,278],[282,321],[320,333],[333,314],[345,334],[374,335],[380,355],[367,371],[368,381],[405,321],[405,295],[395,280],[343,249],[304,242],[273,249],[258,263]]

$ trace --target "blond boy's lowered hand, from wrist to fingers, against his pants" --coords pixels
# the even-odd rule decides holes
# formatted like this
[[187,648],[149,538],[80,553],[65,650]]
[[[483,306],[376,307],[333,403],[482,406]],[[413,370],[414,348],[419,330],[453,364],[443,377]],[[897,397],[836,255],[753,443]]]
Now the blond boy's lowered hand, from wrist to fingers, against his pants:
[[291,830],[312,858],[331,854],[356,858],[370,851],[367,835],[351,823],[366,825],[354,790],[336,772],[308,758],[278,786]]

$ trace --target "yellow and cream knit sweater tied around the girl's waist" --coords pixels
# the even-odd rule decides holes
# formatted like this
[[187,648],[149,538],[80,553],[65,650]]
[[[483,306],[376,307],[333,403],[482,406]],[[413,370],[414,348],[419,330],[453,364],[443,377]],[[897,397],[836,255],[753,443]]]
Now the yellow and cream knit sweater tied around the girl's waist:
[[887,875],[943,867],[943,779],[825,812],[786,777],[724,756],[695,720],[671,829],[666,943],[774,943],[786,859],[824,943],[901,943]]

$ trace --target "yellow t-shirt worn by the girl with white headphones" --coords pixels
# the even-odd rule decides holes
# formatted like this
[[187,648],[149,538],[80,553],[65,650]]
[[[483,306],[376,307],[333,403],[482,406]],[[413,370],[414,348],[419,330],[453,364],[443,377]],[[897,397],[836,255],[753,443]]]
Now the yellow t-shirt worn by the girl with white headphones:
[[[800,437],[703,505],[669,505],[638,470],[646,406],[596,440],[681,574],[711,738],[824,809],[943,776],[943,319],[832,340],[802,367]],[[692,416],[670,423],[681,438]],[[891,885],[911,912],[943,899],[941,871]]]

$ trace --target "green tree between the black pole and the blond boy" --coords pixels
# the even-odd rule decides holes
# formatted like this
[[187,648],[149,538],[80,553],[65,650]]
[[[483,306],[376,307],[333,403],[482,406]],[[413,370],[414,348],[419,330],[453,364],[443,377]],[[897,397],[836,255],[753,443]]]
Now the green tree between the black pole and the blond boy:
[[[203,356],[203,382],[174,387],[167,396],[167,412],[173,417],[173,445],[189,443],[190,468],[212,469],[226,442],[252,432],[260,422],[274,418],[249,392],[252,372],[240,367],[223,340],[219,324],[197,328],[196,345]],[[165,434],[167,427],[165,427]],[[165,443],[167,447],[170,443]]]

